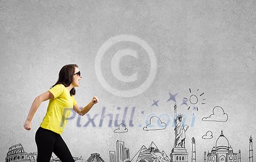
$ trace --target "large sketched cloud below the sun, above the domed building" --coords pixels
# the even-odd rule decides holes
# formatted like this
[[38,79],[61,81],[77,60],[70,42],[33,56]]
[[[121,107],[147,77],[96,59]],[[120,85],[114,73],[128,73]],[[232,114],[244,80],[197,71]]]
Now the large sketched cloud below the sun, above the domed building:
[[202,121],[226,122],[227,120],[228,114],[220,106],[214,107],[213,113],[210,116],[202,118]]

